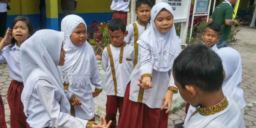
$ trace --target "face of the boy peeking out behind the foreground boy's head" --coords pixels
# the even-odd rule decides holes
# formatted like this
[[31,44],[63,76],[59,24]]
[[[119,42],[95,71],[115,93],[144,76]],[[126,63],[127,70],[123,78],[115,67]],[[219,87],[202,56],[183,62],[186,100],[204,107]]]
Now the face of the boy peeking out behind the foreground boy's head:
[[210,28],[207,28],[205,32],[202,32],[202,37],[205,45],[209,47],[213,46],[221,38],[221,36],[218,35],[218,32]]

